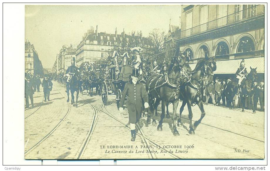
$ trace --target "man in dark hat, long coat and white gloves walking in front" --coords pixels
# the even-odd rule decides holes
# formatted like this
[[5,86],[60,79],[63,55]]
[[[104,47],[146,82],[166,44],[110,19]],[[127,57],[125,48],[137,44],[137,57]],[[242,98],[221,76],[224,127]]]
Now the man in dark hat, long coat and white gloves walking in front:
[[124,100],[127,96],[127,109],[129,112],[131,141],[135,141],[136,138],[135,124],[141,118],[142,101],[144,102],[145,108],[149,107],[148,94],[145,90],[145,86],[143,83],[137,82],[139,75],[139,70],[133,69],[131,75],[132,80],[125,85],[119,107],[119,110],[123,111]]

